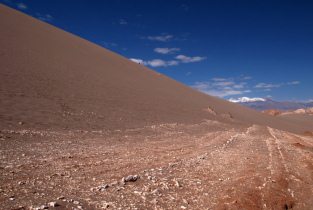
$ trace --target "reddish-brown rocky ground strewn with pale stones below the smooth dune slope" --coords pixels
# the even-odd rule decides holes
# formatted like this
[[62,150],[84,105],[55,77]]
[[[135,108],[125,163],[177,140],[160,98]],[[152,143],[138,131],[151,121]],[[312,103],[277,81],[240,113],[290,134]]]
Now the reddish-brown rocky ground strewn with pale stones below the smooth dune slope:
[[205,121],[0,133],[1,209],[312,209],[313,138]]

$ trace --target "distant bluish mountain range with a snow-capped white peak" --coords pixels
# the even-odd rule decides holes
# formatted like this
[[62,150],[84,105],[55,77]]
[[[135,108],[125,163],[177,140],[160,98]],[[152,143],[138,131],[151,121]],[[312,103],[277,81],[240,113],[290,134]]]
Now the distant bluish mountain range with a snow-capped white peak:
[[282,111],[307,109],[313,107],[313,102],[296,102],[296,101],[274,101],[266,98],[247,98],[242,97],[239,99],[230,99],[229,101],[239,103],[241,105],[264,111],[269,109],[277,109]]

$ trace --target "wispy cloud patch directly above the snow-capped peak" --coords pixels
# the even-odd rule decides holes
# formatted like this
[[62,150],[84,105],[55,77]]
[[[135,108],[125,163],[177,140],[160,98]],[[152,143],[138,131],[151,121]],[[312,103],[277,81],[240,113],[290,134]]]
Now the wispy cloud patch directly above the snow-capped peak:
[[222,98],[251,92],[242,78],[213,78],[209,81],[196,82],[191,87],[208,95]]

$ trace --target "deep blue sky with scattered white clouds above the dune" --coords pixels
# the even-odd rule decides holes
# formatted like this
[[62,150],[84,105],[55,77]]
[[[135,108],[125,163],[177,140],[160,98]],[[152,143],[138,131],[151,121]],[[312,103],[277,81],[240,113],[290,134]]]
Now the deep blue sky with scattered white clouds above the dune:
[[313,99],[313,1],[0,0],[225,99]]

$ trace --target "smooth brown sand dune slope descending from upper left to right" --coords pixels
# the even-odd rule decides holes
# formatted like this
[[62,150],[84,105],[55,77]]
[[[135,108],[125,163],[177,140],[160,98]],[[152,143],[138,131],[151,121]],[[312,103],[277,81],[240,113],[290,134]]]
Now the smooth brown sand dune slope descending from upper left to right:
[[4,5],[0,27],[1,128],[23,122],[38,129],[124,129],[210,119],[309,130],[197,92]]

